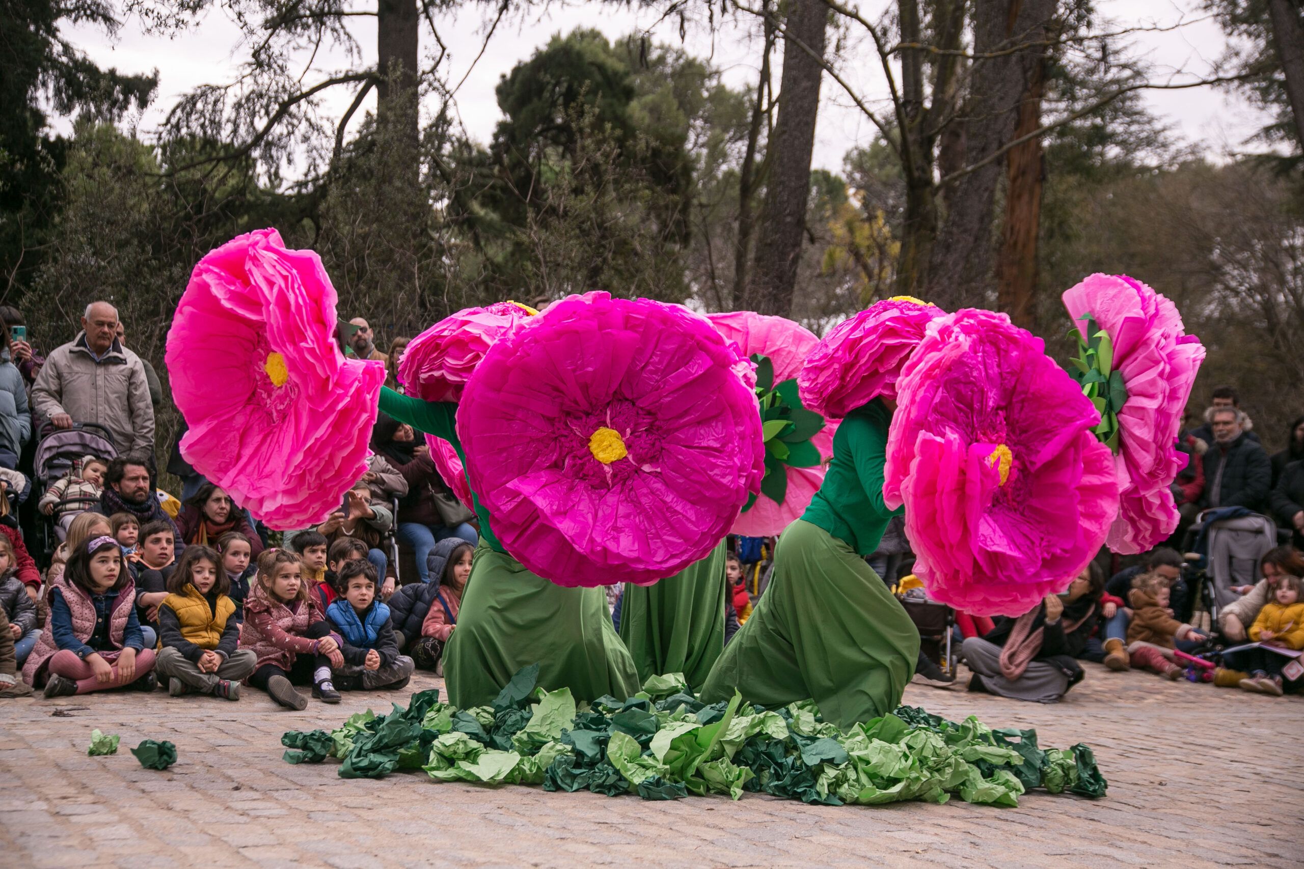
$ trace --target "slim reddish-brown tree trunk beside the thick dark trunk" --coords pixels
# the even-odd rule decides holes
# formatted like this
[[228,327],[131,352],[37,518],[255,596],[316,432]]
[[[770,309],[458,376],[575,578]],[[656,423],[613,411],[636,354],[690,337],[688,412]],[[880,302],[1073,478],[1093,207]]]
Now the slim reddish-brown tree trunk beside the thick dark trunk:
[[[1042,93],[1046,83],[1046,57],[1029,61],[1028,93],[1018,107],[1015,138],[1037,130],[1042,124]],[[1042,141],[1028,139],[1005,155],[1008,188],[1005,229],[996,262],[996,310],[1009,314],[1015,326],[1033,328],[1037,288],[1037,231],[1042,216]]]

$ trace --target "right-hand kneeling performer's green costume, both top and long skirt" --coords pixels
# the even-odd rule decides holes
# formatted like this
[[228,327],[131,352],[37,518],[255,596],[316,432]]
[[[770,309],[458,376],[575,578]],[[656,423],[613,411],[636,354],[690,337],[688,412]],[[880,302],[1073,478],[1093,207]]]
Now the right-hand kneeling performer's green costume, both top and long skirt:
[[778,539],[775,572],[702,689],[704,702],[812,698],[844,731],[891,713],[914,675],[919,632],[865,563],[893,511],[883,503],[891,412],[878,399],[833,435],[833,460],[802,519]]

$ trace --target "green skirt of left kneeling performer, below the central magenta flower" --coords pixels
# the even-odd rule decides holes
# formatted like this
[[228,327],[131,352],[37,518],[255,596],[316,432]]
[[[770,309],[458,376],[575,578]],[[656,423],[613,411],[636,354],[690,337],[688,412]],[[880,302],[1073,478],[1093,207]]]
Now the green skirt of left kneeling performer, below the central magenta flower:
[[565,589],[484,542],[443,650],[449,702],[493,702],[522,667],[539,664],[539,687],[575,700],[632,697],[642,683],[612,625],[602,589]]

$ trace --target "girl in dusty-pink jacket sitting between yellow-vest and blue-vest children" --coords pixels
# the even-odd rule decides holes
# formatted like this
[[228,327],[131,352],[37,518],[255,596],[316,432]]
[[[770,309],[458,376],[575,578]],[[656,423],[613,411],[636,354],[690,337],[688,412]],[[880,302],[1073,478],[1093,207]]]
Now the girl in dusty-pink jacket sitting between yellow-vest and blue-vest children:
[[[331,634],[321,599],[308,590],[303,560],[295,552],[267,550],[258,556],[258,577],[245,598],[241,645],[257,655],[245,684],[266,691],[287,709],[308,706],[296,684],[329,681],[330,668],[344,666],[339,637]],[[339,694],[327,702],[339,702]]]

